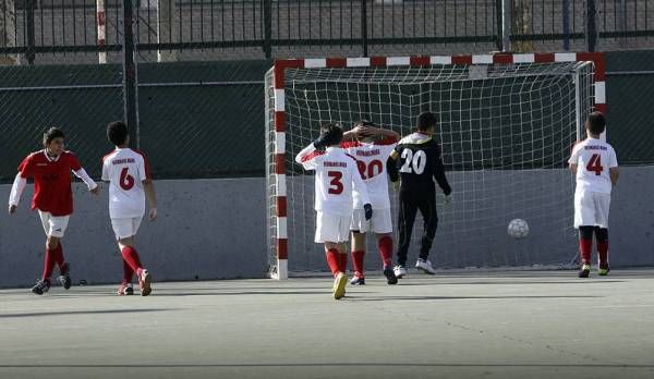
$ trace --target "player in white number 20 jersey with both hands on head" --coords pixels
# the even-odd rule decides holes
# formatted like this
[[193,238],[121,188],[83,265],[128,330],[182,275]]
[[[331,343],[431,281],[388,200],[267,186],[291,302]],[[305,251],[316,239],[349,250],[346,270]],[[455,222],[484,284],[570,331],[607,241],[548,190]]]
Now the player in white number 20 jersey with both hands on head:
[[400,135],[393,131],[376,127],[368,121],[360,121],[355,127],[343,134],[341,146],[356,159],[359,172],[363,178],[371,204],[375,213],[371,220],[364,217],[361,198],[354,192],[354,209],[352,211],[352,262],[354,277],[350,284],[365,284],[364,256],[365,233],[372,231],[377,236],[377,247],[384,262],[384,276],[388,284],[397,284],[398,279],[392,268],[392,221],[390,199],[388,196],[388,179],[386,160],[397,145]]

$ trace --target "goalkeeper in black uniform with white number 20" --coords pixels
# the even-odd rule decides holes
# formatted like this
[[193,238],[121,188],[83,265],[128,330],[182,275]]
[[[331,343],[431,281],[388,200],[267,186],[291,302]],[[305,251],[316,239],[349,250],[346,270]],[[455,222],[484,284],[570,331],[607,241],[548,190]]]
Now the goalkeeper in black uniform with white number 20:
[[[395,274],[402,278],[407,274],[407,253],[411,243],[411,232],[415,213],[422,213],[424,230],[420,247],[420,258],[415,268],[425,273],[436,271],[427,259],[436,235],[438,215],[436,213],[436,186],[438,183],[445,194],[445,203],[449,203],[452,192],[443,167],[440,147],[433,138],[436,126],[436,114],[423,112],[417,117],[417,132],[403,137],[387,161],[388,175],[393,185],[400,187],[400,206],[398,217],[399,243],[398,265]],[[398,174],[399,171],[399,174]],[[400,178],[401,176],[401,178]]]

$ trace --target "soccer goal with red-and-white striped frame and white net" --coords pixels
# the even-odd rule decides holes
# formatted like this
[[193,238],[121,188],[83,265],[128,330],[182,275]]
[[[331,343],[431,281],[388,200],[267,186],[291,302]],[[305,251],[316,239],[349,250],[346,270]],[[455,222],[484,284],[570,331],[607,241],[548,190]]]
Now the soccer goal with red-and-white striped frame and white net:
[[[434,266],[570,264],[577,243],[567,159],[589,112],[605,111],[604,83],[600,53],[277,61],[265,78],[270,276],[326,270],[313,242],[314,178],[293,161],[318,125],[349,130],[365,119],[407,135],[426,110],[439,117],[435,138],[453,188],[450,205],[438,200]],[[529,237],[507,234],[517,218],[529,222]],[[419,216],[410,262],[420,233]],[[366,268],[379,269],[368,239]]]

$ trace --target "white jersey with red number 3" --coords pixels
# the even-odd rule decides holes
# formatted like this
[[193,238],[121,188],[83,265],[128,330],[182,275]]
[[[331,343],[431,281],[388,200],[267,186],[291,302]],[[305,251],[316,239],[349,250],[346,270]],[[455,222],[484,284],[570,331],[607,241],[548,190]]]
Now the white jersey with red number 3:
[[351,217],[352,190],[359,193],[363,204],[370,203],[365,184],[356,168],[356,160],[343,149],[328,147],[326,151],[318,151],[311,144],[300,151],[295,161],[305,170],[316,171],[315,210]]

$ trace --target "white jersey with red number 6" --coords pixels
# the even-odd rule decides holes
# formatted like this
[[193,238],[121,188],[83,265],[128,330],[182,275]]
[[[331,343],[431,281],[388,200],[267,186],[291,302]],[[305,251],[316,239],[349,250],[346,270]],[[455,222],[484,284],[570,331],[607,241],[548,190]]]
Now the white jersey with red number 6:
[[131,148],[117,148],[102,158],[102,180],[109,182],[109,216],[136,218],[145,213],[143,181],[150,180],[145,155]]

